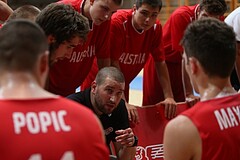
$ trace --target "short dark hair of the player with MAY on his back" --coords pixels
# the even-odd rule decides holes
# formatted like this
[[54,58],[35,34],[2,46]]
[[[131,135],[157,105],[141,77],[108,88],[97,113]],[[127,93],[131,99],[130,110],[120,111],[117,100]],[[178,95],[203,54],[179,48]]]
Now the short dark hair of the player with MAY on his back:
[[214,18],[194,21],[187,27],[183,40],[187,58],[195,57],[209,77],[228,77],[236,60],[233,29]]

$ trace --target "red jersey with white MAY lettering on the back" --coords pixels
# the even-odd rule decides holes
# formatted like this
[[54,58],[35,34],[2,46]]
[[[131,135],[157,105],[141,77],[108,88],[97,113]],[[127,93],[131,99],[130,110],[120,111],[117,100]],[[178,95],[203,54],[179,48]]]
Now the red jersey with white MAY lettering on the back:
[[240,159],[240,94],[197,103],[183,112],[202,140],[202,160]]

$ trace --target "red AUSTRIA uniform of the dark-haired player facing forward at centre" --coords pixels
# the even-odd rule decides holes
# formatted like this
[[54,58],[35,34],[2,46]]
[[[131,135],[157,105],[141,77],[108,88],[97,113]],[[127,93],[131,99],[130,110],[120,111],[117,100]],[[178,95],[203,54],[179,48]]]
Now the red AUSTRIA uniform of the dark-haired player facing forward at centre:
[[127,100],[129,84],[143,69],[149,55],[151,54],[155,61],[164,61],[165,59],[162,52],[162,26],[160,22],[156,21],[152,28],[139,33],[133,27],[132,14],[133,10],[131,9],[118,10],[114,13],[111,20],[110,35],[111,59],[119,61],[121,71],[125,76],[125,97]]

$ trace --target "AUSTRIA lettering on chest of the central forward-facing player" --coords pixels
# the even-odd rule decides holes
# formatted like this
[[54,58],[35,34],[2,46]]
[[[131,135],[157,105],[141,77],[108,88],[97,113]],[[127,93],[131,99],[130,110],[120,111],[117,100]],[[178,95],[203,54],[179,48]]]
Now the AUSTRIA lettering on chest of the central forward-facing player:
[[146,62],[146,54],[130,54],[130,53],[122,53],[119,58],[119,62],[123,64],[144,64]]

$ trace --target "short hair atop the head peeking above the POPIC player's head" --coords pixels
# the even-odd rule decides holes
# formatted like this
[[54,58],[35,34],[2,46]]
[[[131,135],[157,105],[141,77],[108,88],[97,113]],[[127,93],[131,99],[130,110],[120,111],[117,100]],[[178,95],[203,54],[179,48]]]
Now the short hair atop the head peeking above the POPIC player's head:
[[23,5],[18,7],[13,11],[13,13],[8,17],[7,21],[13,20],[13,19],[29,19],[34,20],[37,17],[37,15],[40,13],[40,9],[33,5]]

